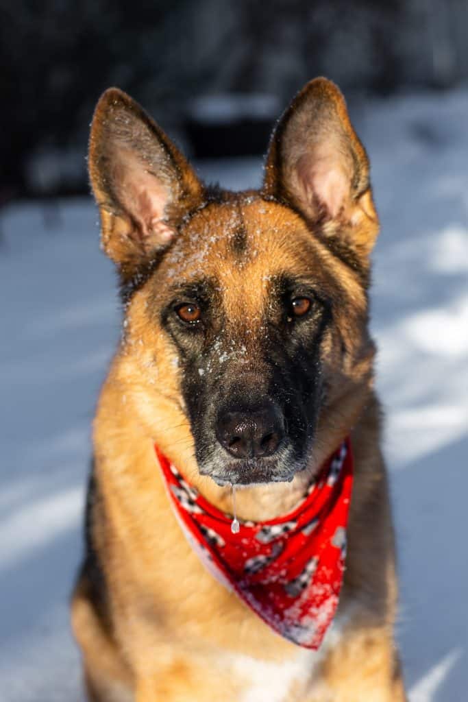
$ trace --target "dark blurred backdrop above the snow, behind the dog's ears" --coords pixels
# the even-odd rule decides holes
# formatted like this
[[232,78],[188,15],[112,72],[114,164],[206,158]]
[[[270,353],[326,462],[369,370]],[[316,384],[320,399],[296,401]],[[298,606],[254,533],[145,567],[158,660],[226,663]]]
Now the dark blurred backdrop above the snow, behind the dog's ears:
[[88,191],[88,125],[109,86],[189,154],[262,152],[316,75],[348,100],[460,83],[467,26],[465,0],[0,0],[0,206]]

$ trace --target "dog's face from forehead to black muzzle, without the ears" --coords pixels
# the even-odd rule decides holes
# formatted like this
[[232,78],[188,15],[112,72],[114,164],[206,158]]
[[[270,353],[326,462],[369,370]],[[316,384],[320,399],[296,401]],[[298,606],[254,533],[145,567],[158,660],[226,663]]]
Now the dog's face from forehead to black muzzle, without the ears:
[[314,436],[337,294],[307,227],[261,199],[212,204],[184,227],[152,286],[200,472],[219,483],[292,479]]

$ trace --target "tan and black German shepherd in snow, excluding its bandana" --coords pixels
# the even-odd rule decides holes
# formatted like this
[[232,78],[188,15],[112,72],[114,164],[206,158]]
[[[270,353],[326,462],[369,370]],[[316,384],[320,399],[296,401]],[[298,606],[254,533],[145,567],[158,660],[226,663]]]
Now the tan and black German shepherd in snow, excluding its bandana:
[[[403,702],[368,332],[379,225],[342,94],[309,82],[274,130],[262,188],[226,192],[203,185],[111,88],[95,110],[89,170],[124,316],[95,417],[72,601],[88,698]],[[239,486],[239,519],[251,525],[288,514],[345,437],[346,569],[333,623],[311,650],[204,567],[154,446],[227,515]]]

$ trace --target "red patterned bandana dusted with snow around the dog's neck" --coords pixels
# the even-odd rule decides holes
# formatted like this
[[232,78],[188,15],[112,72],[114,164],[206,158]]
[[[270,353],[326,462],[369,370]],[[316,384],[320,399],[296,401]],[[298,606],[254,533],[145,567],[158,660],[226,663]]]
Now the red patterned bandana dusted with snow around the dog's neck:
[[318,649],[345,571],[353,482],[349,438],[291,512],[267,522],[239,519],[239,534],[231,531],[232,516],[211,505],[155,449],[175,515],[210,573],[276,633]]

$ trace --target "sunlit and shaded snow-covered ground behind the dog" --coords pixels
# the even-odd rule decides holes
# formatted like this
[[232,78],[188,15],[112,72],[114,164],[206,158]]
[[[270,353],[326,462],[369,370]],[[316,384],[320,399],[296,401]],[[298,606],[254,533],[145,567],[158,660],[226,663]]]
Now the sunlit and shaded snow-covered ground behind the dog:
[[[354,117],[382,220],[373,330],[399,539],[398,637],[410,702],[462,702],[468,93],[373,102]],[[200,171],[239,188],[258,183],[260,162]],[[67,599],[93,406],[119,337],[114,273],[91,200],[60,203],[55,228],[45,226],[47,207],[14,206],[0,220],[2,702],[83,701]]]

